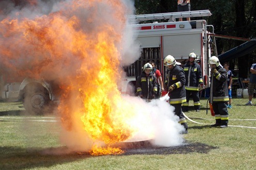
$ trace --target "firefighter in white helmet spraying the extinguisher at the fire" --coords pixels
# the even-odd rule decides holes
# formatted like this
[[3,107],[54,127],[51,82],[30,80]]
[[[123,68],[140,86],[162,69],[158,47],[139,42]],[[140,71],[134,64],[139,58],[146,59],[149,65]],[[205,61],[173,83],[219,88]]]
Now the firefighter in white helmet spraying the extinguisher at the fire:
[[174,112],[180,117],[179,123],[185,128],[183,133],[187,131],[187,121],[182,112],[181,105],[186,102],[186,91],[185,91],[185,73],[182,67],[176,64],[176,60],[173,56],[168,55],[164,60],[164,65],[167,66],[167,76],[165,80],[165,89],[170,94],[170,104],[173,106]]

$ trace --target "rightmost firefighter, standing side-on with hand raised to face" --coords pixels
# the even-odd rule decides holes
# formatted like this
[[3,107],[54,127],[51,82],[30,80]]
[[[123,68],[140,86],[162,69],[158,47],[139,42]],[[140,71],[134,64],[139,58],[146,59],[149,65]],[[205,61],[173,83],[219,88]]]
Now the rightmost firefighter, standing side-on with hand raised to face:
[[210,103],[213,106],[216,123],[212,127],[228,127],[229,113],[227,108],[228,95],[228,74],[216,56],[209,60],[211,67]]

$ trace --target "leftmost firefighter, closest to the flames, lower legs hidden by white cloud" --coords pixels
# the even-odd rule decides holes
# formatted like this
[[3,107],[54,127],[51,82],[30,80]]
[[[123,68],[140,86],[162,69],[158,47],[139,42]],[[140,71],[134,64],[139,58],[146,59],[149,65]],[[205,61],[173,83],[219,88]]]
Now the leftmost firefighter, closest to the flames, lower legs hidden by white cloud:
[[154,99],[157,94],[156,77],[152,70],[153,67],[150,63],[145,64],[142,74],[136,80],[136,96],[140,96],[147,101]]

